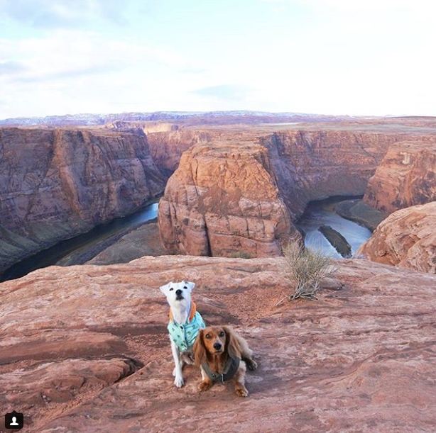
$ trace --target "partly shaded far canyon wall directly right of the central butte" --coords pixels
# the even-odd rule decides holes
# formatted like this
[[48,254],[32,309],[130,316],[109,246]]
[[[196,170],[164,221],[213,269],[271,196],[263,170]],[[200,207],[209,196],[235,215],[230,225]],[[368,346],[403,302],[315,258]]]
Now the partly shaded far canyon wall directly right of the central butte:
[[261,137],[280,193],[294,218],[307,203],[363,195],[396,134],[346,130],[288,130]]

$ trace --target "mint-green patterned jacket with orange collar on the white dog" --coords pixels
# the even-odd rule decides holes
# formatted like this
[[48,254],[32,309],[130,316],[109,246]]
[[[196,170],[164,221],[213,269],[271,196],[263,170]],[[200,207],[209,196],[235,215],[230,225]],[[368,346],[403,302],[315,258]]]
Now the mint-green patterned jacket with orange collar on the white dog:
[[198,313],[195,303],[191,301],[190,317],[187,321],[180,325],[175,322],[173,314],[170,310],[170,322],[168,323],[168,332],[174,344],[178,347],[180,352],[187,352],[194,345],[195,339],[198,335],[198,330],[206,327],[203,317]]

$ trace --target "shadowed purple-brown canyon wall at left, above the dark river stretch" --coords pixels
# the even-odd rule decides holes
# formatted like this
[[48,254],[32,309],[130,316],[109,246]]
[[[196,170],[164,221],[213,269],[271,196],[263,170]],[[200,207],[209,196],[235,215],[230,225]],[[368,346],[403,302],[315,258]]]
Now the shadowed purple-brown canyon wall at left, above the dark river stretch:
[[145,136],[0,128],[0,271],[132,213],[164,186]]

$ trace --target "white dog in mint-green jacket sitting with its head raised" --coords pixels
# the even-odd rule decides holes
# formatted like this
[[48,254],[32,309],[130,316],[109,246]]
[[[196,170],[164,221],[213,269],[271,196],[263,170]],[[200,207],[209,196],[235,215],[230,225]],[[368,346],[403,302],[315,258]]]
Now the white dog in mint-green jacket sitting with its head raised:
[[160,291],[166,296],[170,304],[170,332],[171,352],[173,352],[175,369],[173,371],[174,384],[178,388],[183,386],[182,367],[192,364],[192,347],[200,329],[206,327],[205,321],[196,310],[195,303],[191,300],[191,291],[195,283],[171,281],[165,286],[160,286]]

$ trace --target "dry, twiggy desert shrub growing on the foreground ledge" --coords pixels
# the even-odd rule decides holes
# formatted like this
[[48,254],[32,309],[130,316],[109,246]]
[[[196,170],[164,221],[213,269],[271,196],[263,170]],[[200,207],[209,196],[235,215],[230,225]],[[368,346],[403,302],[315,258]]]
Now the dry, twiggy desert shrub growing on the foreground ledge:
[[283,247],[288,278],[295,285],[293,293],[278,301],[295,300],[298,298],[317,299],[320,283],[326,276],[337,271],[332,257],[320,249],[305,248],[299,242],[290,242]]

